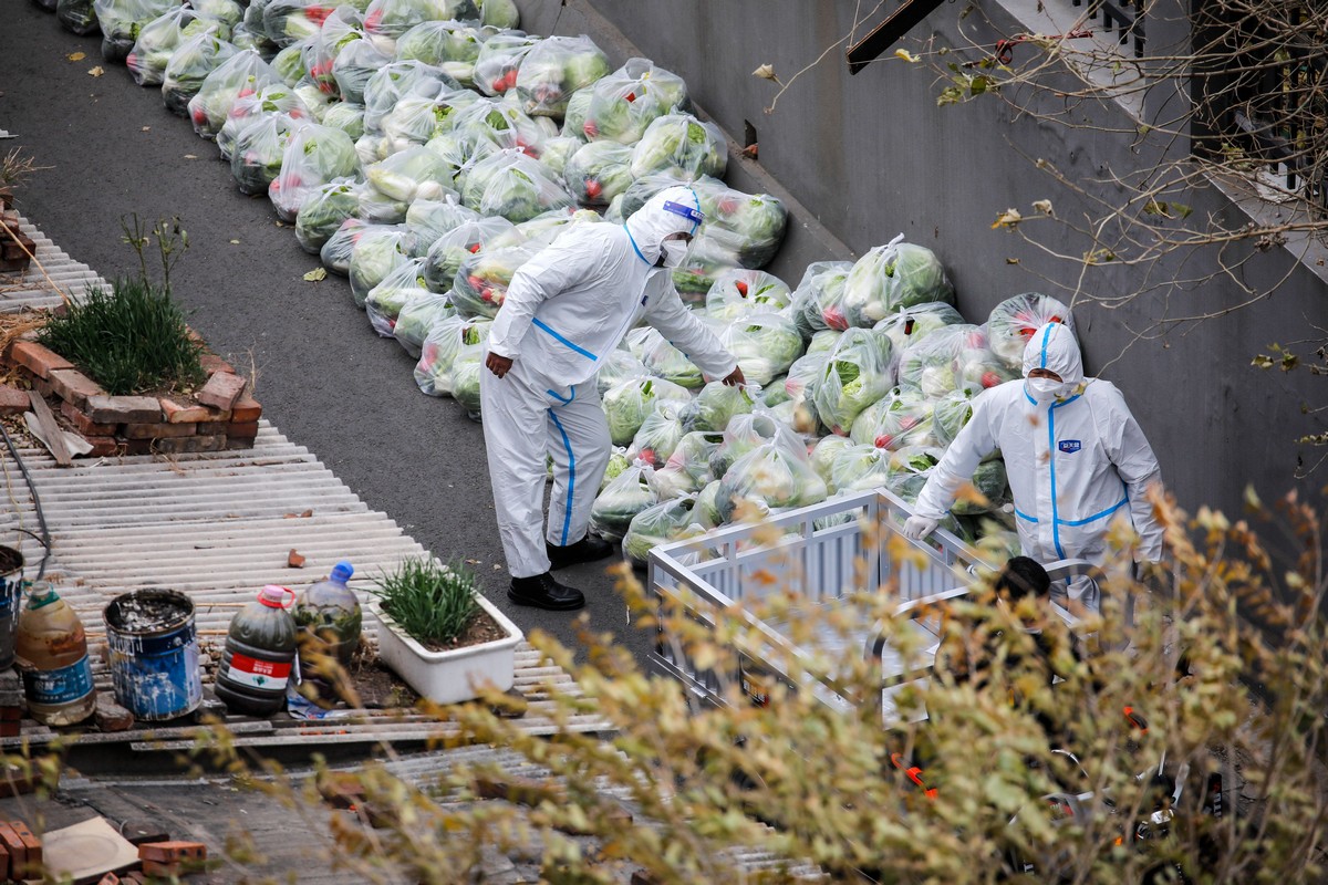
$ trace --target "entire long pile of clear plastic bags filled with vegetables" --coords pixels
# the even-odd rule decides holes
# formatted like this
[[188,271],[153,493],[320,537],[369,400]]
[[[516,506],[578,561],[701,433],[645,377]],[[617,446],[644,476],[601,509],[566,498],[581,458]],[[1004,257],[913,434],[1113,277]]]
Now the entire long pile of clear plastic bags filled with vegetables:
[[[511,0],[60,0],[108,61],[162,90],[216,142],[235,187],[267,195],[296,240],[349,279],[414,381],[482,419],[489,324],[515,271],[576,224],[620,223],[664,187],[705,214],[673,272],[734,354],[742,389],[632,330],[598,383],[618,448],[594,507],[637,564],[655,544],[749,515],[886,487],[916,496],[983,389],[1019,377],[1024,341],[1068,306],[1037,293],[981,322],[938,256],[903,235],[795,284],[761,268],[782,203],[722,179],[728,141],[681,77],[612,69],[588,37],[518,29]],[[999,452],[965,536],[1008,499]]]

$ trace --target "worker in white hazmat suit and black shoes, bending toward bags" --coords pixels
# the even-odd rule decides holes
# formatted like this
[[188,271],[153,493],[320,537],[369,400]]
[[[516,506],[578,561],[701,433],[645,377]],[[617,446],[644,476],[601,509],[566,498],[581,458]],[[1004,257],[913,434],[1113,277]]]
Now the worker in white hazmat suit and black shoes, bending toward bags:
[[[625,224],[578,224],[523,264],[489,332],[479,395],[489,478],[511,589],[519,605],[584,605],[551,569],[608,556],[590,511],[610,434],[595,373],[644,318],[710,378],[744,383],[737,361],[679,299],[679,267],[699,230],[689,187],[651,198]],[[547,528],[546,454],[554,462]]]

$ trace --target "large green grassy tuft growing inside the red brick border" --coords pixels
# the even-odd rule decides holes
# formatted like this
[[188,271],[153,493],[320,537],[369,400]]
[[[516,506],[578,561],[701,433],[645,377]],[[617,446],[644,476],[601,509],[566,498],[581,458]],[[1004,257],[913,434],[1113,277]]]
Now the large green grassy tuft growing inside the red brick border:
[[191,389],[207,379],[198,361],[203,345],[189,337],[170,289],[143,279],[117,280],[110,292],[89,289],[84,303],[46,322],[39,341],[113,395]]

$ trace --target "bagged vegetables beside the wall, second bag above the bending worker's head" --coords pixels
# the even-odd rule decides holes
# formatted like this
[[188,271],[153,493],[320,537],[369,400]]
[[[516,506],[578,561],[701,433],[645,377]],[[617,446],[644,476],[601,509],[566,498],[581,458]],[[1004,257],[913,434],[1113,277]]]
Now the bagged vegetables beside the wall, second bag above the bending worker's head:
[[665,114],[687,111],[687,84],[656,68],[649,58],[628,58],[618,70],[595,81],[582,131],[590,141],[635,145],[645,129]]

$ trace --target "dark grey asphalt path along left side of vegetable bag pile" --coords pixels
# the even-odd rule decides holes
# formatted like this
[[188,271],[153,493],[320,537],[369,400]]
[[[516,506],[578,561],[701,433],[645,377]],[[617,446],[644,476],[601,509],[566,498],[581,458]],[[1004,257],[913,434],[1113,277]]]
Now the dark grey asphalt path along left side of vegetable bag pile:
[[[343,277],[305,281],[317,256],[267,198],[242,195],[216,146],[100,46],[100,34],[74,36],[36,4],[0,13],[0,130],[16,135],[0,154],[19,149],[49,167],[17,190],[20,212],[106,279],[139,271],[122,219],[179,218],[189,249],[171,271],[175,297],[214,350],[255,374],[264,417],[436,556],[473,560],[489,598],[527,634],[582,649],[579,616],[506,598],[481,426],[420,393],[414,360],[373,332]],[[586,592],[584,626],[644,662],[651,637],[627,625],[603,564],[558,575]]]

